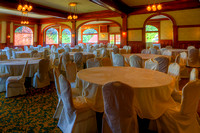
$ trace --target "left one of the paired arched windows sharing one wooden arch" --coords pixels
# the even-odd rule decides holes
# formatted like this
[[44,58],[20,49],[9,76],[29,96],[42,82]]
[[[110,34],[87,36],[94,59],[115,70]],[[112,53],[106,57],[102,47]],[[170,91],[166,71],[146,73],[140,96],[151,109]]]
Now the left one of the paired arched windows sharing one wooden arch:
[[58,31],[54,28],[49,28],[46,31],[46,44],[58,44]]

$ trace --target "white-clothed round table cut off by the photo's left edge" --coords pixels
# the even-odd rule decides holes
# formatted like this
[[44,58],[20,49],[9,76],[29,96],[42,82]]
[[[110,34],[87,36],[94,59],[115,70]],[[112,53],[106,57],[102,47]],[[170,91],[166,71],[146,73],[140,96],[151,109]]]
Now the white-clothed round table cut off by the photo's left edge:
[[11,76],[22,74],[24,65],[28,60],[26,77],[33,77],[39,67],[40,58],[17,58],[0,61],[0,73],[10,73]]

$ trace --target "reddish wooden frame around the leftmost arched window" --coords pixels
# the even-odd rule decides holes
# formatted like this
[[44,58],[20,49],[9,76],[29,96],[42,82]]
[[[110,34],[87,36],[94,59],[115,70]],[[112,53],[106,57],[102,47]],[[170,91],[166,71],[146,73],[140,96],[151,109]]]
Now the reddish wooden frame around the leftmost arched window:
[[33,38],[32,38],[33,44],[32,44],[32,45],[15,45],[15,38],[16,38],[16,36],[15,36],[15,30],[16,30],[17,28],[19,28],[19,27],[22,27],[22,26],[24,26],[24,25],[14,25],[14,28],[13,28],[13,46],[14,46],[14,47],[34,46],[34,36],[35,36],[34,27],[27,26],[27,25],[26,25],[25,27],[30,28],[30,29],[32,30],[32,32],[33,32]]

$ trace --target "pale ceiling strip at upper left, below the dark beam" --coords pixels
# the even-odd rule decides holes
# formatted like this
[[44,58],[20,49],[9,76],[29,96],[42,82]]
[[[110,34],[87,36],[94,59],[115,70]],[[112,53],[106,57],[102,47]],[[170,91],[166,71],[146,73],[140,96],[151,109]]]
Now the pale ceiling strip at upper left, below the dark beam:
[[[5,9],[3,7],[0,7],[0,13],[22,16],[22,13],[18,10],[9,10],[9,9]],[[50,18],[52,16],[50,16],[50,15],[40,15],[40,14],[35,14],[35,13],[30,12],[28,14],[28,17],[41,19],[41,18]]]

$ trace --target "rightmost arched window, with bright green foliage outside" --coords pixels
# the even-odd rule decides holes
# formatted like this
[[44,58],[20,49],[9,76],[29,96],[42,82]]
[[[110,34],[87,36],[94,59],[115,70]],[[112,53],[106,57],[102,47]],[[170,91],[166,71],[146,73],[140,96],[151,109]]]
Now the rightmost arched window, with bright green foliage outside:
[[146,25],[146,42],[159,42],[158,28],[152,25]]

